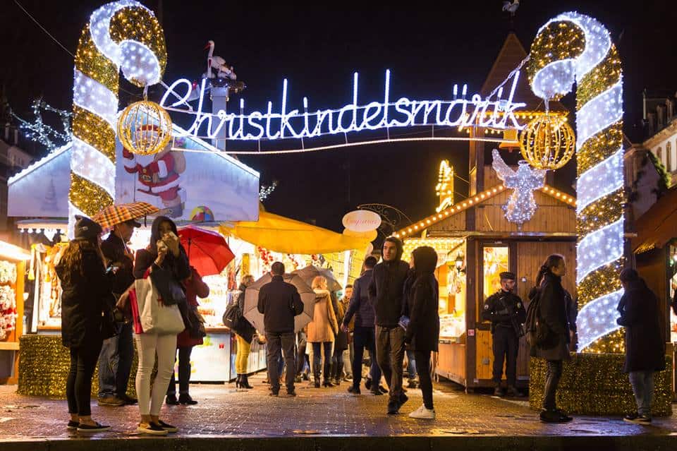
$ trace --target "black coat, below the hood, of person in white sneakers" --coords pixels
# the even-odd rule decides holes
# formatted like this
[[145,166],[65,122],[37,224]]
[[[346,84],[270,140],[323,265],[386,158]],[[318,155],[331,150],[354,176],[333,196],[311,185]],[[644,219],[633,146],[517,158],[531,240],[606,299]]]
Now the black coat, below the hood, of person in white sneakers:
[[409,325],[405,342],[416,351],[437,351],[439,347],[439,286],[432,274],[416,278],[411,286],[407,308]]

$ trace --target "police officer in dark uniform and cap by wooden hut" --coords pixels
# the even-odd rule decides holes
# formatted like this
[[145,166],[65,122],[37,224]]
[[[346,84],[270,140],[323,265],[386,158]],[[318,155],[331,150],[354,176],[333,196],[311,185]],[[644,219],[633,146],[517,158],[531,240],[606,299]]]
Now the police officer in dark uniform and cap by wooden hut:
[[520,336],[523,335],[522,325],[527,319],[522,299],[513,294],[515,289],[515,275],[512,272],[501,272],[501,289],[484,301],[482,319],[492,322],[492,337],[494,341],[494,374],[492,380],[496,384],[495,396],[503,396],[501,389],[501,375],[503,362],[506,362],[506,378],[508,379],[508,396],[523,397],[524,394],[516,388],[517,354],[520,346]]

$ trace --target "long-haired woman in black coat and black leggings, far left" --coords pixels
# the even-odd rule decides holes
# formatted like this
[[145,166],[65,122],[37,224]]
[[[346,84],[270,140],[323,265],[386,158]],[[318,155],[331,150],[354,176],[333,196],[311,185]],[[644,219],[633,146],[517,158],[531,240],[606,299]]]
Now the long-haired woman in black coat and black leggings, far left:
[[99,247],[101,227],[87,217],[75,216],[75,220],[75,239],[68,243],[54,268],[63,289],[61,342],[71,349],[71,369],[66,380],[71,414],[68,429],[98,432],[110,426],[92,420],[92,375],[103,340],[109,338],[104,336],[108,335],[104,314],[111,314],[115,298]]

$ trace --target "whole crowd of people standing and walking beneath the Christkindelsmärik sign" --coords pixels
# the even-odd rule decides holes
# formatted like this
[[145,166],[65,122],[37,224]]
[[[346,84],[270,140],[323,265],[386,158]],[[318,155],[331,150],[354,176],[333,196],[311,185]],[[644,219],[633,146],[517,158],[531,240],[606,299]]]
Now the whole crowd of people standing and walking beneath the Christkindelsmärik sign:
[[[99,364],[99,405],[138,404],[138,432],[166,435],[178,431],[160,419],[161,406],[197,404],[190,397],[190,352],[202,344],[195,332],[197,298],[206,297],[209,287],[190,265],[178,239],[178,231],[168,217],[157,217],[147,248],[134,255],[127,246],[135,227],[128,221],[118,224],[102,242],[102,228],[87,217],[76,217],[75,239],[56,265],[61,280],[62,341],[70,349],[68,373],[69,430],[106,431],[110,426],[94,421],[90,410],[90,392],[94,368]],[[304,311],[296,287],[285,282],[285,267],[275,262],[272,280],[260,287],[257,309],[264,317],[264,335],[240,315],[233,326],[236,334],[236,387],[249,389],[247,361],[250,346],[257,339],[267,344],[267,371],[270,395],[295,396],[295,384],[310,380],[318,389],[340,385],[349,380],[348,392],[361,395],[365,388],[372,395],[387,393],[386,413],[398,414],[408,402],[403,387],[405,368],[408,388],[420,387],[423,403],[411,411],[415,419],[434,419],[431,354],[439,343],[439,286],[434,272],[437,252],[428,246],[416,248],[409,263],[403,261],[403,245],[389,237],[382,246],[382,262],[367,256],[363,272],[345,296],[336,299],[328,281],[312,280],[315,303],[312,320],[303,330],[295,330],[295,317]],[[570,359],[572,341],[571,295],[563,289],[566,262],[561,255],[550,255],[539,270],[536,286],[530,292],[530,306],[513,294],[516,277],[501,273],[501,289],[484,302],[482,318],[492,323],[494,342],[495,395],[502,396],[504,361],[508,395],[523,396],[516,387],[516,359],[519,339],[527,334],[532,356],[547,361],[544,404],[540,419],[544,422],[571,421],[571,416],[556,406],[556,390],[563,361]],[[132,289],[139,281],[150,279],[157,290],[157,302],[176,306],[185,328],[181,332],[162,333],[143,330],[140,312]],[[244,307],[244,293],[254,282],[242,277],[237,305]],[[654,371],[664,368],[664,340],[658,327],[657,299],[632,269],[621,272],[625,294],[618,305],[618,324],[626,327],[626,365],[635,392],[638,412],[626,421],[650,423]],[[182,326],[183,327],[183,326]],[[138,399],[127,395],[133,340],[139,363],[135,387]],[[178,385],[174,363],[178,351]],[[365,351],[369,365],[363,371]],[[157,374],[151,383],[157,358]],[[286,370],[285,370],[286,368]],[[345,373],[345,375],[344,375]],[[284,380],[282,375],[284,374]],[[386,387],[380,381],[384,378]],[[418,378],[418,381],[416,380]]]

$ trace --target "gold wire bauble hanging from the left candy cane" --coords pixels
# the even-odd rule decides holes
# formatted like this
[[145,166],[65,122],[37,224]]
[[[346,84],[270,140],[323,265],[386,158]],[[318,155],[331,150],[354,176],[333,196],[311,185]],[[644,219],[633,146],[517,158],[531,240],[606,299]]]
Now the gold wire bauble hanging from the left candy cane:
[[137,155],[156,154],[171,140],[169,113],[148,100],[130,104],[118,119],[118,139]]

